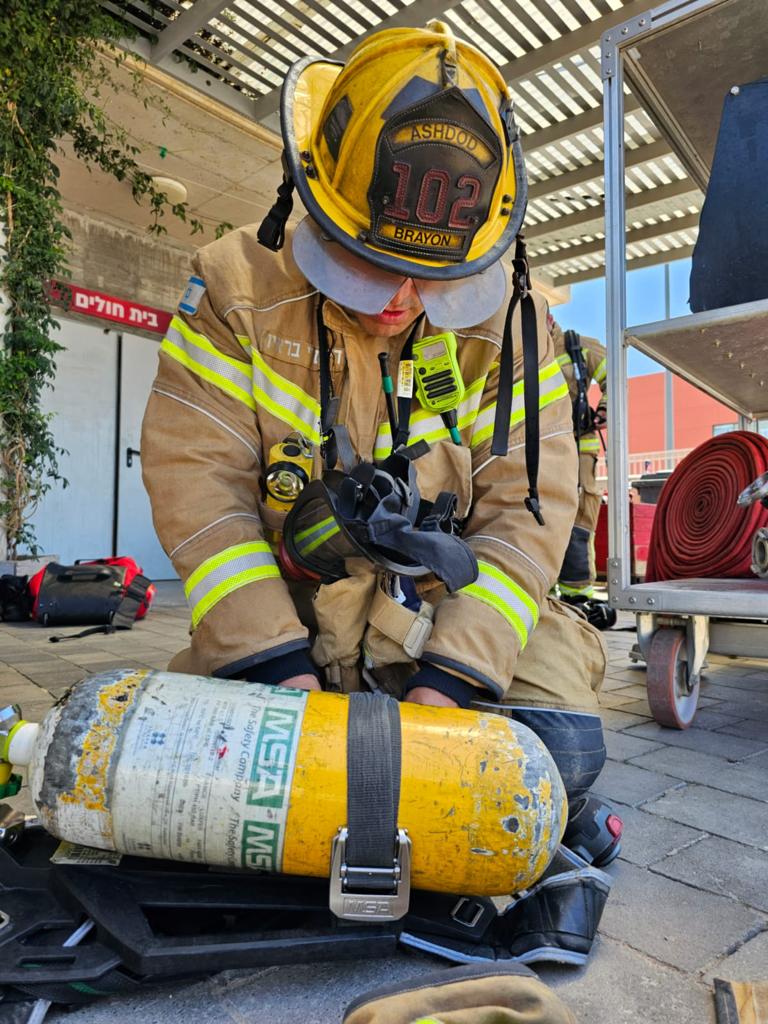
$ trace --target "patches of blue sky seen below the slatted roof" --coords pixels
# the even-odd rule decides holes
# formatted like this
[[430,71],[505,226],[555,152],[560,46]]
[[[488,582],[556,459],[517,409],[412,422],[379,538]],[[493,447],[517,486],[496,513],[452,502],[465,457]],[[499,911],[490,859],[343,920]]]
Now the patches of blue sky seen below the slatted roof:
[[[670,312],[685,316],[688,308],[690,259],[670,263]],[[552,310],[563,331],[572,330],[605,343],[605,279],[585,281],[570,289],[570,302]],[[627,324],[650,324],[664,319],[664,266],[632,270],[627,275]],[[654,374],[662,368],[647,355],[629,350],[630,377]]]

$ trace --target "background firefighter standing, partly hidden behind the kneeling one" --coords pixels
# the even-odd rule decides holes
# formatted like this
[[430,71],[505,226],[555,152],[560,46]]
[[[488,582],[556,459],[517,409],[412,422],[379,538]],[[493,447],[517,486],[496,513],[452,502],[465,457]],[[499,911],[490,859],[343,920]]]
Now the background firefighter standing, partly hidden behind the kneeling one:
[[[595,600],[595,529],[602,496],[596,470],[608,400],[605,348],[596,338],[579,335],[575,331],[563,333],[551,313],[547,323],[557,362],[568,385],[579,450],[579,510],[560,568],[558,590],[560,599],[581,607],[594,626],[609,629],[615,623],[615,611]],[[600,388],[600,400],[595,409],[588,397],[593,382]]]

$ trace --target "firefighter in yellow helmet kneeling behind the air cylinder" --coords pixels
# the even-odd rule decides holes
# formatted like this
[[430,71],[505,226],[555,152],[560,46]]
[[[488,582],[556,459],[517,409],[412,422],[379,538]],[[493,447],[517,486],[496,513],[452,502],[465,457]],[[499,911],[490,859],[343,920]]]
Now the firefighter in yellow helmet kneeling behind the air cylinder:
[[[616,836],[601,805],[583,811],[605,758],[604,647],[548,597],[577,511],[570,402],[521,250],[514,274],[501,262],[526,198],[510,91],[431,23],[376,33],[345,66],[300,60],[282,129],[278,200],[258,229],[198,254],[144,418],[155,525],[191,609],[171,669],[304,689],[373,682],[515,717],[552,751],[583,823],[599,819],[585,855],[604,860]],[[294,188],[307,216],[291,230]],[[443,416],[409,397],[408,356],[445,332],[463,397]],[[374,474],[393,449],[409,453],[424,502],[453,502],[473,582],[449,592],[437,571],[414,585],[416,570],[393,574],[391,551],[377,564],[373,549],[342,578],[295,564],[289,552],[322,557],[341,525],[331,508],[286,545],[281,488]]]

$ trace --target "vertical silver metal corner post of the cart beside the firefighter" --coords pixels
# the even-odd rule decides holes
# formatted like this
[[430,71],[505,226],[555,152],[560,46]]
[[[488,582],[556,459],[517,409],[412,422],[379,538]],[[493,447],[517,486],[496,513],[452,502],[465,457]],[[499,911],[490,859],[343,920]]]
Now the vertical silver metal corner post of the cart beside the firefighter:
[[627,253],[624,180],[624,69],[615,32],[603,36],[605,144],[605,327],[608,360],[608,594],[611,604],[631,583],[629,427],[627,417]]

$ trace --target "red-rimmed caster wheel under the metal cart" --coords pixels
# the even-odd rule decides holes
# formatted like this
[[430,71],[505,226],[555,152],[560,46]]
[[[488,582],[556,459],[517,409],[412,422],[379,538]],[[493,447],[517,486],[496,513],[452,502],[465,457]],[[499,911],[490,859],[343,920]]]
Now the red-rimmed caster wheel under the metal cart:
[[646,677],[653,718],[670,729],[687,729],[698,702],[698,682],[688,681],[685,630],[660,629],[650,643]]

